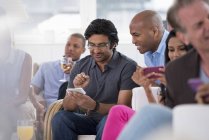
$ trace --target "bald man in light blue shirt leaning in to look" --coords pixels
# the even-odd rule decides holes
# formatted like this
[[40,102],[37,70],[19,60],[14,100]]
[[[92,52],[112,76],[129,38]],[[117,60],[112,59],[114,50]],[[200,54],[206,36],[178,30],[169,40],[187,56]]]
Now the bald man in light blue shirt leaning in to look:
[[145,64],[148,67],[163,66],[168,32],[160,15],[152,10],[142,11],[133,17],[129,28],[132,43],[144,54]]

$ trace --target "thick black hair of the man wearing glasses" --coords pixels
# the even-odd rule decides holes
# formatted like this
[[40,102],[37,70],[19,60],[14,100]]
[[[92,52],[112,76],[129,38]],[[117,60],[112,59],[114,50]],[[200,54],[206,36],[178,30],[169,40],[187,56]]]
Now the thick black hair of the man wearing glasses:
[[111,47],[116,47],[119,42],[118,32],[115,25],[107,19],[95,19],[87,27],[84,36],[88,40],[93,34],[108,36]]

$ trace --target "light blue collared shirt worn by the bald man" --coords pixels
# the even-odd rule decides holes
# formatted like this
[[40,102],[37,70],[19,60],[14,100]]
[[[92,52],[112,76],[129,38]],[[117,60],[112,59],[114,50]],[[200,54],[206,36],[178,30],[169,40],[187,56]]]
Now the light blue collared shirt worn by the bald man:
[[165,48],[168,31],[164,31],[158,49],[155,52],[148,51],[144,54],[144,61],[147,67],[164,66],[165,65]]

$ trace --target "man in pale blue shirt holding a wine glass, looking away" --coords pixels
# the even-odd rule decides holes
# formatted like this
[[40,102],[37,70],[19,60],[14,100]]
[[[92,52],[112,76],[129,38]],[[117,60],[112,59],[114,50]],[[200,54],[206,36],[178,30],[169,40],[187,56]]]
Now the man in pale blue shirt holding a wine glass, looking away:
[[[66,59],[70,58],[73,62],[76,62],[80,59],[84,51],[85,38],[83,35],[79,33],[70,35],[65,45],[64,57]],[[40,66],[33,77],[31,81],[32,92],[29,95],[33,106],[36,108],[38,127],[40,130],[37,137],[42,137],[41,133],[46,109],[58,98],[59,88],[63,84],[63,81],[60,80],[64,78],[64,75],[66,75],[65,78],[68,80],[71,69],[72,65],[69,64],[66,66],[65,70],[63,70],[60,60],[46,62]],[[40,92],[43,93],[42,103],[36,97]]]

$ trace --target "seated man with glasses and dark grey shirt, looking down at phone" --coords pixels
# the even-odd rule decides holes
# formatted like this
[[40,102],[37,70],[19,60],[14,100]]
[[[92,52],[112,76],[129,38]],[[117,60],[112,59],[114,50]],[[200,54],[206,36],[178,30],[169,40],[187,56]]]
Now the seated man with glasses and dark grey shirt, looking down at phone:
[[96,19],[85,31],[90,55],[71,71],[69,87],[81,87],[86,94],[69,92],[64,110],[52,120],[54,140],[74,140],[78,135],[96,135],[101,139],[106,115],[115,104],[131,106],[131,80],[136,63],[116,51],[117,30],[105,19]]

